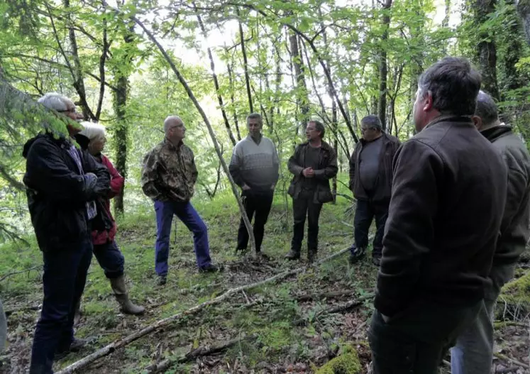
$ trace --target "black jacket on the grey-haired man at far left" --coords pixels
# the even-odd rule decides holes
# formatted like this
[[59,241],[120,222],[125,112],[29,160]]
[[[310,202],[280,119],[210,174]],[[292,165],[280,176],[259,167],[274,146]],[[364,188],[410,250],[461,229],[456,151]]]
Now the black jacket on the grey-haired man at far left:
[[[24,145],[28,207],[35,236],[42,251],[69,248],[89,235],[86,202],[106,196],[109,171],[87,152],[76,150],[85,173],[80,175],[68,153],[72,143],[50,133],[36,136]],[[98,209],[98,214],[100,209]],[[94,221],[96,221],[94,219]]]

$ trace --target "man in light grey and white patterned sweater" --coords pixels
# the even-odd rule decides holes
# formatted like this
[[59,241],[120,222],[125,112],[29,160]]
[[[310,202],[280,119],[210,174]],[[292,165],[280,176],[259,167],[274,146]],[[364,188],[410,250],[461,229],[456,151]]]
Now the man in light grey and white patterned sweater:
[[[255,214],[253,233],[256,252],[260,254],[265,224],[278,181],[280,160],[274,143],[261,133],[263,122],[260,114],[248,115],[247,128],[248,136],[233,148],[228,169],[236,185],[243,190],[243,205],[248,219],[252,221]],[[248,232],[242,218],[236,251],[246,251],[247,245]]]

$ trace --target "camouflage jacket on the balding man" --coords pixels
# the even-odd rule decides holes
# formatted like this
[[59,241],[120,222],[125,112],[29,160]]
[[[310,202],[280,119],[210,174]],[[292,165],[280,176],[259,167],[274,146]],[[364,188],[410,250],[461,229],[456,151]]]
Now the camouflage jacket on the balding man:
[[189,202],[197,181],[193,151],[164,139],[143,159],[141,185],[150,199]]

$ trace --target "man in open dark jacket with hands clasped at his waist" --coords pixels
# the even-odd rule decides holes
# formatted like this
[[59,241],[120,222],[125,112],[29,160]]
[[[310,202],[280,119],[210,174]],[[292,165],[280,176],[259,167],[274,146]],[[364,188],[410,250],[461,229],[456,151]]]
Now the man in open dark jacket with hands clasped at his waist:
[[293,229],[291,251],[287,260],[300,258],[304,224],[307,216],[307,259],[316,259],[319,245],[319,217],[322,204],[333,201],[329,180],[337,175],[337,153],[325,141],[324,125],[309,121],[306,128],[307,142],[297,146],[289,158],[289,172],[293,177],[288,193],[292,197]]

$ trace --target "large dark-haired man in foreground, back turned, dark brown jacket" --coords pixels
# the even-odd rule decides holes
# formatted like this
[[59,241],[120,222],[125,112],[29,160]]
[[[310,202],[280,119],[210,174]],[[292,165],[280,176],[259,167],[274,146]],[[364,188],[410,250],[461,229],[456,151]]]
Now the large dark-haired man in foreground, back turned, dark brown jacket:
[[444,352],[482,304],[507,170],[471,121],[480,80],[457,57],[419,78],[419,133],[394,158],[368,335],[376,374],[438,373]]

